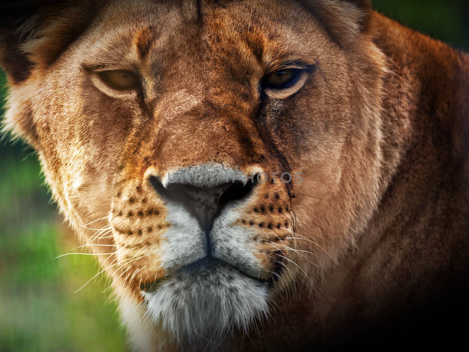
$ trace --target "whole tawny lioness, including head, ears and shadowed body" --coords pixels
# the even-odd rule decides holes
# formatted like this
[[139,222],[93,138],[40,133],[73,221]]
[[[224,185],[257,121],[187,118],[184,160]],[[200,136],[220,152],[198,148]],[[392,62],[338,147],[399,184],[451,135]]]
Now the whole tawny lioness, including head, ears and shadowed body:
[[468,55],[366,0],[28,1],[2,16],[5,128],[38,151],[136,350],[464,331]]

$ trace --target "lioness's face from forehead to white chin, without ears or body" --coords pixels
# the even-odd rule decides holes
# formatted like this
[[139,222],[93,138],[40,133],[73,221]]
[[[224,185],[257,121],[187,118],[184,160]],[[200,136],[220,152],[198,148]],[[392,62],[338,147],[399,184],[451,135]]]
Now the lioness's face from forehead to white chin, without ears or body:
[[266,314],[366,221],[367,60],[300,1],[121,1],[12,89],[55,198],[113,253],[101,261],[118,289],[175,334],[204,334]]

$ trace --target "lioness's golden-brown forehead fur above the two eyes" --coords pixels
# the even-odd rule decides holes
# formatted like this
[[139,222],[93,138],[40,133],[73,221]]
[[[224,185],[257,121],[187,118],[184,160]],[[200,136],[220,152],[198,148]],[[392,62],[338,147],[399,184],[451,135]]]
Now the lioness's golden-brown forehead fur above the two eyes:
[[92,54],[98,54],[89,64],[113,69],[137,61],[164,65],[183,59],[223,66],[226,62],[214,59],[239,55],[233,61],[254,56],[267,69],[276,69],[286,61],[314,63],[310,37],[324,33],[314,17],[292,1],[233,0],[199,7],[195,1],[146,6],[124,1],[103,8],[88,30],[89,41],[95,43]]

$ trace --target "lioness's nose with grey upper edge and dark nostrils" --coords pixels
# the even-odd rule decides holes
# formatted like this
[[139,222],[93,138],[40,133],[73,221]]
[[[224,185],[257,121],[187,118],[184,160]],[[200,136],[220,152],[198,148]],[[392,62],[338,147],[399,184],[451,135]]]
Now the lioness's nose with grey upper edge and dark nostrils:
[[149,182],[161,198],[185,207],[208,233],[224,207],[249,198],[257,175],[247,177],[240,170],[210,164],[168,172],[162,180],[149,176]]

